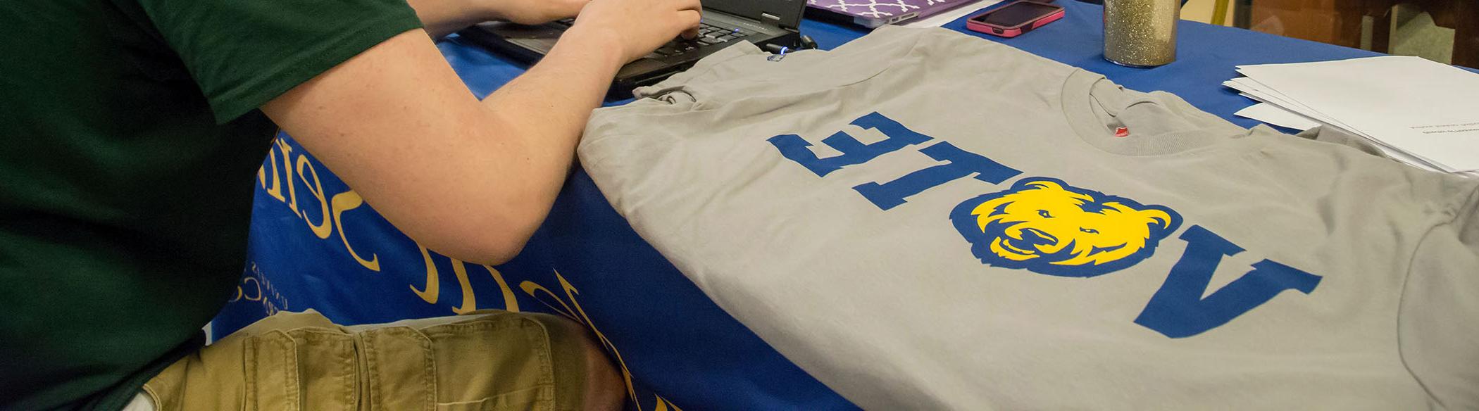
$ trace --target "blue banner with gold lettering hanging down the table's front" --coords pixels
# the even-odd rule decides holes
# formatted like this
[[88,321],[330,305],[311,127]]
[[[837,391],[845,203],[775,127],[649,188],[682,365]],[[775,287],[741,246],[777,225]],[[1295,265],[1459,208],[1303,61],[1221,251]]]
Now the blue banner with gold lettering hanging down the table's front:
[[855,408],[714,306],[578,170],[524,253],[487,266],[407,238],[280,135],[257,174],[246,274],[213,331],[305,309],[345,325],[478,309],[563,315],[606,347],[629,410]]

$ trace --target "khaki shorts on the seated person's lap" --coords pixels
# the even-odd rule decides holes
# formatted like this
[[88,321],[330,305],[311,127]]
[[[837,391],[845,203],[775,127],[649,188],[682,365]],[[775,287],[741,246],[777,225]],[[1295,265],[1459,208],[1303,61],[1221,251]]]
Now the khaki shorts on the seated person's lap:
[[501,310],[340,327],[318,312],[257,321],[154,377],[175,410],[583,410],[584,328]]

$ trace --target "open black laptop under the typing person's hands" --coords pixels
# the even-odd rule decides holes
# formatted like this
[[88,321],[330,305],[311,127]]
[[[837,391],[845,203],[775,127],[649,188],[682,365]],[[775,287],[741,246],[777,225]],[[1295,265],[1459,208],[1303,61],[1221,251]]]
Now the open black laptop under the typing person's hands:
[[[674,72],[694,67],[735,41],[750,41],[762,49],[791,47],[800,43],[805,0],[703,0],[704,18],[698,38],[677,38],[633,61],[617,72],[608,99],[632,98],[632,89],[651,86]],[[921,0],[923,1],[923,0]],[[543,25],[484,22],[458,34],[473,44],[535,62],[555,47],[555,40],[574,24],[563,19]]]

